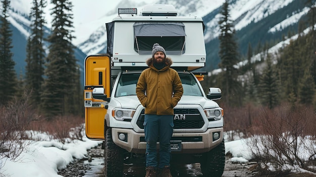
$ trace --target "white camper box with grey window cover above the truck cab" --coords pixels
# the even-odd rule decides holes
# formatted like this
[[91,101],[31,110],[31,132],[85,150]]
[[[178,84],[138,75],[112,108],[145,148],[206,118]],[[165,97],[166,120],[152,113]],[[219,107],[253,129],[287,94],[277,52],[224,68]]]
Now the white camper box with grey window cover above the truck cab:
[[[159,12],[155,14],[174,14]],[[145,60],[151,57],[154,43],[165,48],[173,68],[193,71],[205,66],[204,24],[200,17],[118,16],[106,27],[112,70],[147,67]]]

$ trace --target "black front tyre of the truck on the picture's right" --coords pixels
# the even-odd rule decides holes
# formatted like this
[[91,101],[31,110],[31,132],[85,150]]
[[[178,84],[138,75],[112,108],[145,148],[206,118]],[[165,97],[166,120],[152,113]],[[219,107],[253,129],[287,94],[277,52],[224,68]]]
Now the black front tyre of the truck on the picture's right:
[[224,139],[217,147],[203,154],[200,164],[203,176],[222,176],[225,167]]

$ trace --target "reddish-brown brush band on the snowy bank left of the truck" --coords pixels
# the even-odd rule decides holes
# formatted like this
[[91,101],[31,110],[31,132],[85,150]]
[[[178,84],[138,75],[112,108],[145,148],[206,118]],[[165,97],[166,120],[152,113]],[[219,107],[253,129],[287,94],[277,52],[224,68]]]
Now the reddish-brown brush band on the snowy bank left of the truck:
[[16,97],[8,105],[0,106],[0,159],[15,160],[19,157],[30,143],[29,140],[34,138],[26,134],[27,130],[45,132],[51,139],[62,143],[82,140],[83,117],[56,116],[48,121],[36,112],[28,92]]

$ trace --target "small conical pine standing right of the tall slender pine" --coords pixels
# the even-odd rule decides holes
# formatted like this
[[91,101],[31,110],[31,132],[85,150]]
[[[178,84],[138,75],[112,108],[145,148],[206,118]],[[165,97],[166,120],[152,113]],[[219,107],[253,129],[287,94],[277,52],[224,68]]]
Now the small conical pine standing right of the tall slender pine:
[[259,97],[262,105],[272,109],[279,104],[279,82],[269,54],[267,55],[266,64],[267,66],[260,77]]

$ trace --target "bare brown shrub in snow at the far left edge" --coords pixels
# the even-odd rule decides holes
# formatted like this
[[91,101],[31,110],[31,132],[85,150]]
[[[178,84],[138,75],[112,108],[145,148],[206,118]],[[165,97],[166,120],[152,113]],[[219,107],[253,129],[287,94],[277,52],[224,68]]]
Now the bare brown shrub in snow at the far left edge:
[[0,107],[0,159],[16,160],[29,145],[25,130],[29,123],[38,115],[29,104],[29,92],[24,92],[21,98]]

